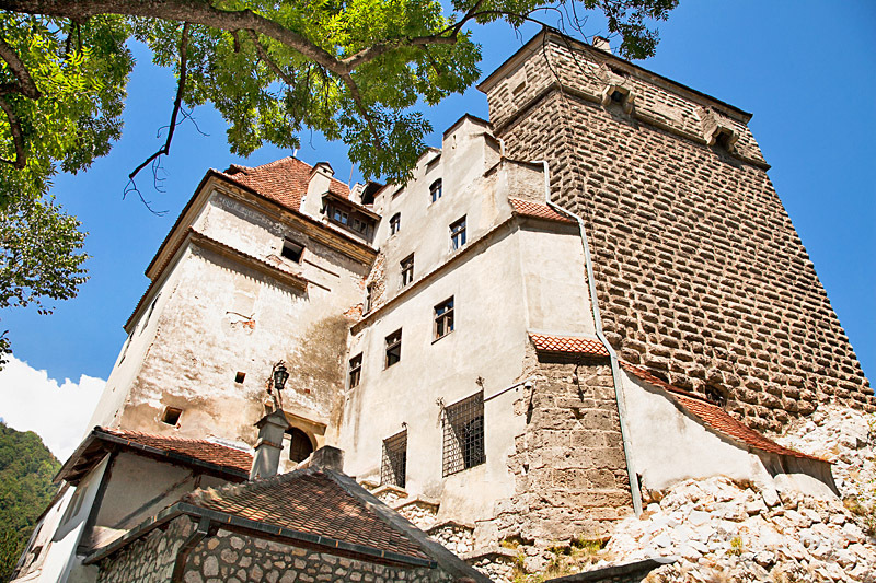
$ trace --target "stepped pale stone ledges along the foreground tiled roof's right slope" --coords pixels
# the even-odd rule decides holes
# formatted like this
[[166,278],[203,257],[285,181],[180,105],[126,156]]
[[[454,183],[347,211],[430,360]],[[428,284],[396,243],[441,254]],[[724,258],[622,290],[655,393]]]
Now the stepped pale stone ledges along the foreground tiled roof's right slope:
[[425,495],[410,495],[404,488],[371,480],[359,483],[381,502],[411,521],[430,538],[460,557],[497,583],[512,579],[517,551],[499,545],[475,548],[474,524],[439,518],[440,501]]

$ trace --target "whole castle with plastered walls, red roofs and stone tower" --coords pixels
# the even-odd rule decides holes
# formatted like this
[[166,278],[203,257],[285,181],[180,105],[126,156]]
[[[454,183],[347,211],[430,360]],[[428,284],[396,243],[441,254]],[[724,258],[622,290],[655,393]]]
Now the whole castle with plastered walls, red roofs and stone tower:
[[761,432],[876,401],[750,115],[550,31],[479,88],[489,121],[404,185],[205,175],[18,580],[228,580],[265,548],[281,581],[500,580],[500,541],[603,537],[684,478],[832,495]]

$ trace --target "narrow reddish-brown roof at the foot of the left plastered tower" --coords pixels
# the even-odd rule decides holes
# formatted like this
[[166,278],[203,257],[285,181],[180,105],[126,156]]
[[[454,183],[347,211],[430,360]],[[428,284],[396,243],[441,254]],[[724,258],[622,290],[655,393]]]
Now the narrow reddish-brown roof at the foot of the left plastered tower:
[[253,464],[249,452],[207,440],[95,427],[61,466],[55,481],[78,482],[116,446],[172,464],[198,466],[229,479],[247,478]]

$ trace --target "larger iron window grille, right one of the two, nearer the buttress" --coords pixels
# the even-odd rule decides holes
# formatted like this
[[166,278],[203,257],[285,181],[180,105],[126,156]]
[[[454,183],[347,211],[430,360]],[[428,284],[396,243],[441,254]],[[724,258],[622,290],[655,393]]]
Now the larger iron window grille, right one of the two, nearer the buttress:
[[483,392],[446,407],[443,429],[442,476],[486,462]]

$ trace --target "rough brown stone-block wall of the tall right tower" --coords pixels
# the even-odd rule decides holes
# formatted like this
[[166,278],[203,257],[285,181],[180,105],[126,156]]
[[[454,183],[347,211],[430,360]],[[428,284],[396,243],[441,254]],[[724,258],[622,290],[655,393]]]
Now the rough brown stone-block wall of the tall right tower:
[[[584,217],[603,326],[621,358],[724,397],[757,429],[777,430],[825,400],[873,410],[869,383],[742,114],[728,120],[726,107],[704,97],[694,106],[690,95],[681,108],[679,95],[661,97],[666,88],[650,91],[647,107],[639,95],[642,112],[603,106],[599,78],[556,54],[549,51],[551,67],[541,54],[526,61],[519,95],[502,82],[491,89],[491,116],[500,115],[493,121],[507,154],[549,160],[554,200]],[[597,69],[620,79],[606,63]],[[586,82],[539,93],[555,71]],[[649,85],[632,77],[626,85]],[[658,105],[661,121],[643,114]],[[734,125],[730,153],[706,145],[691,112],[706,129],[715,116]]]

